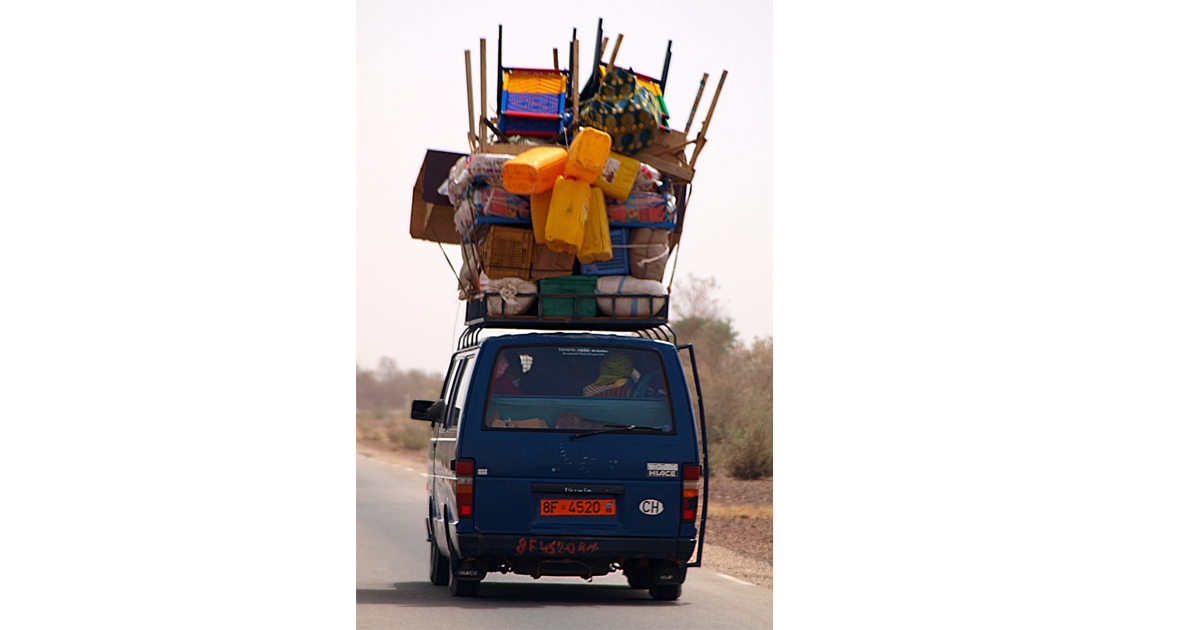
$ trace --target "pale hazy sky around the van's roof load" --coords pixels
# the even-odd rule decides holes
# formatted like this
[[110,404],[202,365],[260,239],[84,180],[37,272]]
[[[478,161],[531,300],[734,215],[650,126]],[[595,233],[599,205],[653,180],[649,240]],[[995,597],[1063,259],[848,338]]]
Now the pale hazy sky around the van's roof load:
[[[553,6],[553,11],[547,8]],[[463,302],[436,244],[408,235],[412,188],[426,149],[468,152],[463,50],[472,52],[479,115],[479,40],[487,38],[487,89],[494,107],[497,30],[508,66],[568,62],[577,29],[580,62],[592,62],[596,22],[624,35],[617,64],[660,76],[672,42],[666,102],[682,131],[701,77],[701,126],[721,71],[708,145],[696,163],[676,283],[715,277],[719,298],[746,340],[772,330],[772,5],[738,2],[358,2],[356,359],[442,371],[462,331]],[[662,19],[662,16],[670,16]],[[589,73],[583,73],[586,80]],[[490,110],[490,115],[494,112]],[[461,263],[457,246],[445,246]],[[667,269],[670,280],[671,268]]]

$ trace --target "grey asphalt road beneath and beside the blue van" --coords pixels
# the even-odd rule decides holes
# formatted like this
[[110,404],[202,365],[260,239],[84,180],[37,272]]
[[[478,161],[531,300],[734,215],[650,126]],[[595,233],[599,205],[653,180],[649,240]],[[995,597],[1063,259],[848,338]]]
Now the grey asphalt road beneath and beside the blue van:
[[620,572],[578,577],[488,574],[475,598],[428,578],[425,470],[358,457],[358,628],[770,628],[772,592],[691,569],[677,601],[634,590]]

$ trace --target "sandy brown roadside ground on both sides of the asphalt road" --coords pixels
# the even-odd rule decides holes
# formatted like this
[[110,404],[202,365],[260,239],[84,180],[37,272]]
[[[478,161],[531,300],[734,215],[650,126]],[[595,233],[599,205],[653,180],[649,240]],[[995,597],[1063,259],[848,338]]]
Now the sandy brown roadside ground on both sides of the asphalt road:
[[[426,468],[424,451],[359,440],[358,452],[418,470]],[[770,479],[709,478],[708,526],[701,558],[704,569],[772,588],[773,487]]]

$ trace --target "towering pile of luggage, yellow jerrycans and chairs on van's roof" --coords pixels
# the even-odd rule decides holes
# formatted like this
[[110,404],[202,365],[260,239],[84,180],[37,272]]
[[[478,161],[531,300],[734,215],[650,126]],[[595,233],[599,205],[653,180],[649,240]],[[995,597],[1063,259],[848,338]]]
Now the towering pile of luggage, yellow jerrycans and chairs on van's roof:
[[[480,116],[478,132],[467,53],[472,150],[426,154],[410,233],[462,246],[457,280],[460,299],[470,302],[468,324],[522,317],[666,320],[667,259],[679,244],[720,85],[689,142],[707,74],[688,127],[673,131],[664,100],[670,43],[655,79],[616,65],[622,37],[601,64],[607,40],[598,29],[582,91],[574,35],[566,70],[558,70],[557,49],[550,70],[506,68],[500,58],[498,114]],[[480,47],[486,59],[484,41]],[[480,74],[486,112],[486,71]]]

